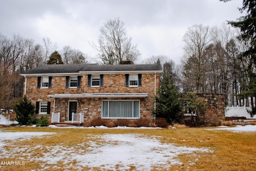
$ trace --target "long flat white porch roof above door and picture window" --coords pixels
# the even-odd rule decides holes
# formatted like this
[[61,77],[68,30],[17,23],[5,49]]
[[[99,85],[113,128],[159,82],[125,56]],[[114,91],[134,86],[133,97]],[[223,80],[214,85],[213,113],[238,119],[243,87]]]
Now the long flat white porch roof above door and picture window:
[[148,97],[148,93],[82,93],[82,94],[52,94],[52,98],[92,98],[92,97]]

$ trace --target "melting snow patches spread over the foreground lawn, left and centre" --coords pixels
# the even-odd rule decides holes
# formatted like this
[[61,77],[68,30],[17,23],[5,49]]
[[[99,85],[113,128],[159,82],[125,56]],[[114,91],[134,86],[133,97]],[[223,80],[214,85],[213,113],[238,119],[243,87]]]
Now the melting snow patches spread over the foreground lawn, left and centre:
[[[65,169],[82,170],[82,167],[87,166],[115,170],[116,165],[120,165],[118,168],[120,170],[130,169],[132,166],[135,166],[136,170],[151,170],[154,166],[159,167],[161,165],[162,168],[168,168],[170,165],[182,164],[178,159],[174,159],[180,154],[212,152],[208,148],[177,147],[175,144],[161,143],[157,139],[158,137],[147,137],[142,134],[90,135],[90,139],[100,138],[100,142],[86,141],[85,139],[85,143],[77,144],[76,147],[80,147],[79,150],[62,145],[37,145],[35,147],[23,145],[22,147],[9,148],[12,149],[11,151],[4,148],[5,145],[12,146],[6,144],[4,140],[16,140],[20,137],[26,139],[31,136],[48,134],[45,132],[13,133],[0,130],[0,158],[44,161],[45,163],[41,166],[45,169],[48,167],[47,164],[55,164],[59,161],[64,161],[64,164],[67,164],[76,161],[75,164],[68,165]],[[85,150],[83,146],[88,148]],[[30,157],[33,151],[42,151],[42,153],[36,157]],[[71,151],[72,153],[70,153]],[[191,164],[193,162],[191,161]]]

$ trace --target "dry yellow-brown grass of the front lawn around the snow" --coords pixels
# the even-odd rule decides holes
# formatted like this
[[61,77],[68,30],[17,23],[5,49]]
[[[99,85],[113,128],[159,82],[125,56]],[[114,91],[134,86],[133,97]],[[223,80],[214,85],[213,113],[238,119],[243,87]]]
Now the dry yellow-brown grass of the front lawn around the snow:
[[[15,148],[29,147],[33,151],[28,151],[26,154],[17,152],[16,157],[23,157],[25,165],[5,165],[0,168],[2,171],[27,171],[27,170],[66,170],[67,165],[76,165],[76,161],[71,163],[58,162],[52,165],[44,161],[29,161],[30,157],[40,157],[43,153],[48,152],[49,146],[72,147],[74,151],[79,153],[80,148],[88,149],[86,141],[92,141],[91,135],[123,134],[136,133],[143,136],[157,136],[157,139],[162,143],[174,143],[176,146],[187,147],[207,147],[212,150],[212,153],[189,153],[178,155],[182,165],[171,165],[168,170],[189,170],[189,171],[251,171],[255,170],[256,161],[256,133],[233,133],[223,130],[208,130],[209,128],[180,128],[180,129],[53,129],[49,127],[12,127],[3,128],[8,131],[22,132],[54,132],[56,134],[43,136],[43,138],[34,137],[24,141],[9,141],[10,146],[4,148],[13,150]],[[100,143],[100,139],[93,139]],[[78,144],[84,144],[83,146]],[[153,149],[154,150],[154,149]],[[58,151],[56,152],[58,153]],[[1,161],[15,161],[14,158],[1,158]],[[119,164],[116,164],[116,170],[119,170]],[[139,166],[131,166],[129,170],[138,170]],[[58,168],[58,169],[56,169]],[[87,168],[83,170],[101,170],[99,167]],[[154,168],[152,170],[159,170]],[[70,170],[70,169],[69,169]],[[71,169],[72,170],[72,169]],[[74,169],[77,170],[77,169]],[[165,169],[166,170],[166,169]]]

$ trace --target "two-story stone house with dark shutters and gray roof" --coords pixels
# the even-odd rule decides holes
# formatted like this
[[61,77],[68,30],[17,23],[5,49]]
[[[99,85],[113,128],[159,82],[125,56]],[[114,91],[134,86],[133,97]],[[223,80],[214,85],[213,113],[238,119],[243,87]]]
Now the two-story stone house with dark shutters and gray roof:
[[102,119],[154,119],[154,95],[160,86],[160,64],[42,65],[22,76],[24,95],[36,114],[52,123]]

